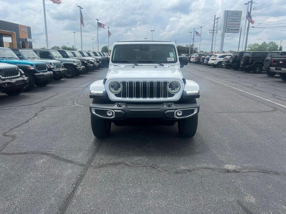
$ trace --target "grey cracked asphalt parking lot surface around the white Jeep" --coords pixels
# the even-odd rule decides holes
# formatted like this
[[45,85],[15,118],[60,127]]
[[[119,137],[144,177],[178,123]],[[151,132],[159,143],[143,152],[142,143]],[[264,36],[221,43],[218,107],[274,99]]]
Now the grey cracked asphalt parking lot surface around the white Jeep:
[[89,85],[107,69],[0,95],[0,213],[285,213],[286,82],[189,64],[198,130],[112,126],[97,139]]

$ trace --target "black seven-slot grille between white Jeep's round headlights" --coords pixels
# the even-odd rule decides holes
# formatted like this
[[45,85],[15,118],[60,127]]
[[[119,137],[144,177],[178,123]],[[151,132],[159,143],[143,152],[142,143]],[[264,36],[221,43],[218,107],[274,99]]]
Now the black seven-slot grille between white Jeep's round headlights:
[[115,94],[121,98],[168,98],[168,81],[121,81],[122,90]]

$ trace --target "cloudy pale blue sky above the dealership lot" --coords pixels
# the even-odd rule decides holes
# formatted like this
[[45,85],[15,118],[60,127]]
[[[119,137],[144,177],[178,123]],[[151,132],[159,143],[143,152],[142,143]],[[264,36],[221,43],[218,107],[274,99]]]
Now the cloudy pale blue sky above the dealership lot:
[[[220,32],[224,10],[241,10],[241,26],[244,27],[247,0],[62,0],[62,4],[53,4],[45,0],[49,44],[74,45],[80,47],[79,8],[83,7],[84,27],[82,27],[83,50],[97,51],[96,19],[104,23],[112,36],[109,38],[110,49],[116,41],[153,40],[177,41],[177,44],[190,43],[190,33],[200,32],[202,26],[200,50],[211,50],[211,35],[214,15],[218,19],[216,48],[220,45]],[[286,49],[286,0],[254,0],[252,19],[255,24],[249,31],[248,44],[274,41]],[[46,46],[45,25],[42,0],[0,0],[0,20],[31,27],[32,39],[37,48]],[[282,21],[282,22],[275,22]],[[258,24],[263,23],[263,24]],[[284,24],[285,23],[285,24]],[[251,25],[251,24],[250,24]],[[267,27],[255,29],[255,27]],[[277,26],[281,26],[276,28]],[[275,27],[269,29],[269,27]],[[1,28],[1,26],[0,26]],[[108,44],[108,30],[99,28],[99,48]],[[237,50],[239,33],[227,33],[224,51]],[[243,32],[241,40],[243,37]],[[94,39],[94,40],[92,40]],[[199,36],[195,37],[194,46],[199,47]],[[241,42],[242,44],[242,42]],[[33,44],[34,45],[34,44]]]

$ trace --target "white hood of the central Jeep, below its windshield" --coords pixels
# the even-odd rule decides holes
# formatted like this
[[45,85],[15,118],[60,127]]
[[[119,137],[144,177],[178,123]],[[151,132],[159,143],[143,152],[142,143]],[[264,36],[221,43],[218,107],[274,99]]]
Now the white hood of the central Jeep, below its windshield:
[[175,66],[124,66],[112,67],[106,75],[107,79],[180,79],[183,75],[179,68]]

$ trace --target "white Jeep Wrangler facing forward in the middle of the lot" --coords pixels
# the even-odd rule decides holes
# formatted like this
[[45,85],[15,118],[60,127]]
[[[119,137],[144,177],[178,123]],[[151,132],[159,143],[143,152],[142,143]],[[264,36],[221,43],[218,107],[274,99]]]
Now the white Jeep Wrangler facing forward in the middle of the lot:
[[105,79],[90,86],[93,134],[108,136],[111,122],[116,126],[178,122],[180,135],[193,137],[200,92],[197,83],[183,77],[180,68],[186,64],[188,58],[179,58],[173,42],[114,43]]

